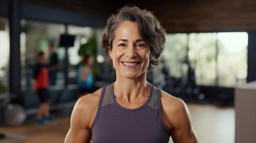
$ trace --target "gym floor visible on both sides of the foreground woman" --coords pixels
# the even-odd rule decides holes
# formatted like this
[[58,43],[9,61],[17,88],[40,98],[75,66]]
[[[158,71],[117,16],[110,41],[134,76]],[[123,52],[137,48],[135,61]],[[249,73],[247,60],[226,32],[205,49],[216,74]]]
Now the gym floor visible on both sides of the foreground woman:
[[[232,107],[187,104],[199,143],[234,143],[235,111]],[[28,121],[18,127],[0,127],[0,132],[20,134],[19,143],[63,143],[70,126],[70,117],[55,117],[57,124],[40,127]],[[14,141],[13,141],[14,142]],[[10,143],[0,139],[0,143]],[[169,143],[173,143],[170,139]]]

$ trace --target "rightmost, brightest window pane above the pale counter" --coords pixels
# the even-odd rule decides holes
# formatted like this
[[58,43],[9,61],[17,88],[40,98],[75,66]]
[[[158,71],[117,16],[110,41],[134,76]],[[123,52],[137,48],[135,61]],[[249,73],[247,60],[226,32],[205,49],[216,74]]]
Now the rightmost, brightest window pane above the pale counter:
[[248,33],[218,33],[218,85],[246,84]]

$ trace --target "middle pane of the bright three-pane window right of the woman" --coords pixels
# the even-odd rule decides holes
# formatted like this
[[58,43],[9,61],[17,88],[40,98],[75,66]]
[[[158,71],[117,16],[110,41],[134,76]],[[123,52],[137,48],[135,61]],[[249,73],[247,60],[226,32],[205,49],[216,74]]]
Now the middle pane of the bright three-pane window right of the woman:
[[198,85],[216,85],[216,33],[189,34],[189,63]]

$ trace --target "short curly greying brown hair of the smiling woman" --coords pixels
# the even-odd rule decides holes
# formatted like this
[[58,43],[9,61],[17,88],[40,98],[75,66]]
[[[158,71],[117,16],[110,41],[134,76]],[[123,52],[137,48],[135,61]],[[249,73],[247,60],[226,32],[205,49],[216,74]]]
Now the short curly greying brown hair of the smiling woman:
[[136,22],[141,37],[146,40],[150,46],[150,53],[153,59],[147,68],[148,71],[159,64],[159,57],[164,50],[166,31],[152,12],[141,10],[134,5],[126,5],[108,17],[105,31],[101,36],[101,48],[108,55],[108,65],[113,66],[108,51],[112,50],[112,42],[115,38],[115,30],[122,22]]

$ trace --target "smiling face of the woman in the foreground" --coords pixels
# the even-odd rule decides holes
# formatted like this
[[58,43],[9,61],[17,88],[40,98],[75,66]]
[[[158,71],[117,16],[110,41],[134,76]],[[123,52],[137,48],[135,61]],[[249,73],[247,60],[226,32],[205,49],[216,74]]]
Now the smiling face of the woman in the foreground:
[[115,70],[123,77],[134,79],[146,72],[150,49],[139,35],[136,22],[126,21],[117,27],[109,55]]

